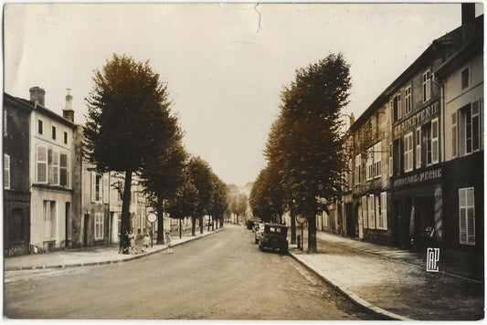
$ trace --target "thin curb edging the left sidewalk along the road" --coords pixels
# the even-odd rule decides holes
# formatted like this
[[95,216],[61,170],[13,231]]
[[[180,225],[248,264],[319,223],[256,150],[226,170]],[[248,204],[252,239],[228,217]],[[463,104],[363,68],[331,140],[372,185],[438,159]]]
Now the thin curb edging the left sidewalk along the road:
[[[188,240],[185,240],[184,242],[179,242],[179,243],[173,245],[173,247],[181,246],[181,245],[184,245],[186,243],[195,241],[197,239],[204,238],[206,236],[211,236],[211,235],[219,233],[220,231],[223,231],[223,230],[225,230],[225,228],[219,228],[217,230],[214,230],[211,233],[203,234],[202,236],[191,237]],[[137,255],[134,255],[132,257],[126,257],[126,258],[122,258],[122,259],[111,259],[111,260],[104,260],[104,261],[98,261],[98,262],[59,264],[59,265],[49,265],[49,266],[43,265],[43,266],[32,266],[32,267],[5,267],[4,271],[5,272],[6,271],[26,271],[26,270],[33,271],[33,270],[39,270],[39,269],[54,269],[54,268],[61,268],[62,269],[62,268],[67,268],[67,267],[93,267],[93,266],[101,266],[101,265],[110,265],[110,264],[117,264],[117,263],[123,263],[123,262],[130,262],[134,259],[139,259],[142,257],[148,257],[148,256],[153,255],[155,253],[160,253],[166,249],[167,249],[167,246],[164,246],[164,247],[156,248],[151,252],[137,254]]]

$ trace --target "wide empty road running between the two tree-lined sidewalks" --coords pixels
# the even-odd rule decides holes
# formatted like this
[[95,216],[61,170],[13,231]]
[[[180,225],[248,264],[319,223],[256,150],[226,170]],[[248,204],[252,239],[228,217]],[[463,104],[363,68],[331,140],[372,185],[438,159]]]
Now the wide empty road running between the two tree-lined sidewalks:
[[235,225],[173,255],[19,274],[4,301],[5,316],[27,319],[372,319],[291,257],[259,252]]

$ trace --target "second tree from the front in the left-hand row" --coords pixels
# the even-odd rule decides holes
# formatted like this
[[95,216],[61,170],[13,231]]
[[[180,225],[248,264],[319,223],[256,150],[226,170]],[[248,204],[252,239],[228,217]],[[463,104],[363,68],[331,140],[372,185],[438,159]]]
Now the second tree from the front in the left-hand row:
[[171,199],[185,182],[185,161],[188,153],[182,144],[183,132],[175,128],[166,147],[146,157],[141,170],[145,194],[157,211],[157,244],[164,244],[164,202]]

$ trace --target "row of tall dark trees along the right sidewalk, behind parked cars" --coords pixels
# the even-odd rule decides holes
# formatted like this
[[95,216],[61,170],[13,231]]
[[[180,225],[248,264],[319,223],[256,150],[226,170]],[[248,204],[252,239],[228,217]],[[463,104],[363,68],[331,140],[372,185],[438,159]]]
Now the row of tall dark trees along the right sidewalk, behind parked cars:
[[343,121],[348,103],[350,66],[343,55],[330,54],[296,70],[281,92],[280,114],[265,149],[267,166],[252,187],[249,203],[263,221],[281,221],[291,213],[308,219],[308,252],[316,252],[316,215],[326,210],[343,183]]

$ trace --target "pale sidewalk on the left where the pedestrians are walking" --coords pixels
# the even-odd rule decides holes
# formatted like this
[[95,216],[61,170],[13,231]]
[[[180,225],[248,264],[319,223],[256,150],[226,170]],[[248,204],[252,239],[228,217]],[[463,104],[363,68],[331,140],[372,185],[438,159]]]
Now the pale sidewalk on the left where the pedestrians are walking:
[[[224,230],[224,228],[209,232],[205,229],[203,234],[199,234],[199,229],[196,230],[196,236],[191,236],[191,232],[189,232],[183,234],[181,239],[179,239],[178,234],[173,234],[173,246],[182,245],[189,241],[212,235]],[[69,248],[52,253],[31,254],[20,257],[6,257],[4,258],[4,270],[8,272],[18,270],[88,267],[95,265],[115,264],[131,261],[136,258],[146,257],[167,248],[166,245],[154,245],[153,247],[149,246],[146,253],[142,253],[142,239],[137,241],[136,247],[137,251],[139,252],[139,254],[136,255],[118,254],[119,245],[116,244],[112,246]]]

